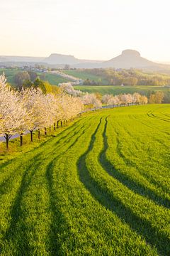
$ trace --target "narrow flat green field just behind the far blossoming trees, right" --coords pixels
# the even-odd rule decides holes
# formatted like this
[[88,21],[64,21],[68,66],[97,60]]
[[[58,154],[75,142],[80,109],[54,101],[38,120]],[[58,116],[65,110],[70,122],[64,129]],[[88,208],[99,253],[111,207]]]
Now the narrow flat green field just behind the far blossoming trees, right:
[[99,92],[101,95],[113,94],[119,95],[121,93],[134,93],[139,92],[142,95],[147,95],[148,92],[170,92],[169,87],[159,87],[152,85],[137,85],[137,86],[118,86],[118,85],[76,85],[74,89],[81,90],[82,92]]

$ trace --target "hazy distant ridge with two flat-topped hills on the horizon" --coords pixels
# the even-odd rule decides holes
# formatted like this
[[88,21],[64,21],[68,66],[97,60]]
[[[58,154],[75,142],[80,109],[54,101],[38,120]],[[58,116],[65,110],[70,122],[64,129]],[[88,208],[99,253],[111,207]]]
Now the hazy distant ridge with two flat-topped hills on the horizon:
[[20,57],[20,56],[0,56],[0,65],[31,65],[44,64],[50,67],[63,68],[70,65],[71,68],[140,68],[142,70],[170,70],[170,65],[155,63],[146,58],[142,58],[137,50],[123,50],[123,52],[111,60],[80,60],[73,55],[63,55],[52,53],[49,57]]

